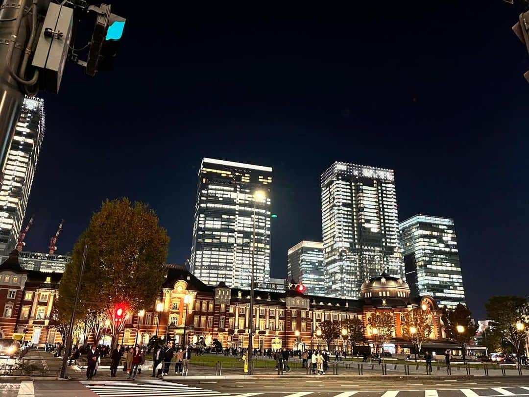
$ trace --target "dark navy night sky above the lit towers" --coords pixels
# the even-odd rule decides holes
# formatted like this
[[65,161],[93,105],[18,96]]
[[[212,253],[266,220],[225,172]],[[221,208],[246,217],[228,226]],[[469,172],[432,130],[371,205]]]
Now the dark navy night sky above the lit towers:
[[184,263],[198,168],[212,157],[273,167],[271,266],[283,277],[287,249],[322,238],[320,175],[340,160],[394,169],[400,220],[455,220],[477,319],[490,295],[526,295],[518,10],[281,3],[114,2],[127,17],[114,71],[90,78],[69,63],[60,94],[42,94],[26,249],[47,250],[65,219],[57,252],[70,251],[105,198],[127,196],[157,211],[168,261]]

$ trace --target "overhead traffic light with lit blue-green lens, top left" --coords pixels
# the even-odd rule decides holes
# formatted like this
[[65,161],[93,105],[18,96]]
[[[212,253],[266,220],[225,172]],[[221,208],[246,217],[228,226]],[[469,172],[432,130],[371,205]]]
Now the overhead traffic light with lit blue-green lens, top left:
[[97,14],[86,61],[86,73],[94,76],[99,70],[112,69],[126,19],[112,14],[110,4],[90,6],[88,10]]

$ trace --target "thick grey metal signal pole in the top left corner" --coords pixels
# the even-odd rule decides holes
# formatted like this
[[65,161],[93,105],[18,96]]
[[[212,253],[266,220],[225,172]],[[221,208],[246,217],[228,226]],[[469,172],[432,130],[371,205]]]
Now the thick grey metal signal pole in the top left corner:
[[[17,2],[3,0],[0,8],[0,172],[2,176],[7,150],[11,145],[16,120],[19,118],[20,107],[24,100],[24,93],[16,81],[16,77],[19,76],[16,74],[21,69],[22,53],[26,47],[29,47],[29,43],[26,42],[29,39],[28,32],[31,32],[30,37],[35,32],[32,19],[36,11],[36,0]],[[24,76],[19,78],[24,79]]]

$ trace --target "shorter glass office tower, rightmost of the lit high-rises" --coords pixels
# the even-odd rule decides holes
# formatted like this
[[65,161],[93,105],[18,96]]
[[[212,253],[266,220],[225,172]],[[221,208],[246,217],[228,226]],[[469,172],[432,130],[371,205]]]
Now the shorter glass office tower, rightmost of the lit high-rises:
[[465,305],[454,221],[419,214],[400,222],[399,229],[411,293],[430,295],[449,308]]

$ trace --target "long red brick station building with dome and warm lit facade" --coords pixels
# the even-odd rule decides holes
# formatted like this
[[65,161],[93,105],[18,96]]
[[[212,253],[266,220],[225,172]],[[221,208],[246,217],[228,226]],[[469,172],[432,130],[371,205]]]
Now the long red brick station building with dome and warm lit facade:
[[[49,317],[62,273],[23,269],[18,252],[0,264],[0,337],[30,341],[33,345],[61,342],[59,332],[49,327]],[[411,343],[402,337],[405,313],[416,306],[427,307],[433,332],[423,350],[457,354],[459,347],[444,338],[440,310],[431,297],[411,297],[401,279],[382,274],[362,285],[360,300],[309,296],[296,290],[268,292],[256,290],[254,310],[254,348],[290,349],[324,346],[316,330],[323,320],[340,321],[358,317],[366,324],[366,338],[373,346],[368,319],[372,313],[388,312],[395,319],[394,338],[384,350],[409,353]],[[426,306],[423,306],[426,305]],[[142,316],[129,315],[119,340],[125,345],[147,344],[156,335],[167,336],[181,344],[206,346],[218,340],[223,347],[248,347],[250,329],[250,292],[230,288],[224,283],[208,286],[184,266],[171,265],[162,291],[153,307]],[[159,310],[159,311],[158,311]],[[299,331],[299,332],[297,332]],[[299,335],[296,335],[296,334]],[[185,335],[185,337],[184,337]],[[99,341],[110,342],[110,330]],[[106,338],[106,339],[105,339]],[[92,340],[89,341],[91,342]],[[331,348],[350,347],[343,340],[332,341]]]

